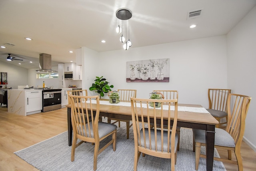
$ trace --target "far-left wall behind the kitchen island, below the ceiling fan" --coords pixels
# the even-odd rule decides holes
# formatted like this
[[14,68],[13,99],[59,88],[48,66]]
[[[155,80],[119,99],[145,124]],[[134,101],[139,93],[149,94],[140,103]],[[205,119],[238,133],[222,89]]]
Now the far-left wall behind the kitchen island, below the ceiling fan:
[[14,67],[8,62],[0,62],[0,72],[7,72],[8,88],[17,89],[18,85],[28,84],[28,70],[26,68]]

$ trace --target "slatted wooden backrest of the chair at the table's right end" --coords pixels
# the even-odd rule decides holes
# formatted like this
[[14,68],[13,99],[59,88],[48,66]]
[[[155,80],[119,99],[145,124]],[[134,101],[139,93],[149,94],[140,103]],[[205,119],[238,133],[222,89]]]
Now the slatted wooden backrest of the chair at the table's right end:
[[252,97],[229,93],[227,98],[228,121],[226,131],[235,143],[241,143],[245,129],[245,118]]

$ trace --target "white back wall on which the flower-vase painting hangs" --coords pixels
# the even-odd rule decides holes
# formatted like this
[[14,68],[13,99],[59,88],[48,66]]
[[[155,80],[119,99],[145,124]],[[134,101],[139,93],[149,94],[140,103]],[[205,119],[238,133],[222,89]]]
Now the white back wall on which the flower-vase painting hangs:
[[[98,76],[116,90],[137,89],[137,97],[149,98],[153,89],[173,89],[179,103],[208,108],[208,88],[227,88],[226,53],[226,36],[101,52]],[[170,58],[170,82],[126,82],[126,62],[161,58]]]

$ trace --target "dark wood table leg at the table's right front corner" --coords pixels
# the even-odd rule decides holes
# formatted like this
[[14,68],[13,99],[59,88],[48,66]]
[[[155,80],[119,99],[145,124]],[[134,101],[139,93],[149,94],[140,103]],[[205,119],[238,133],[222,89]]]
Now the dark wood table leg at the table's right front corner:
[[206,129],[206,170],[212,171],[214,155],[215,125],[207,125]]

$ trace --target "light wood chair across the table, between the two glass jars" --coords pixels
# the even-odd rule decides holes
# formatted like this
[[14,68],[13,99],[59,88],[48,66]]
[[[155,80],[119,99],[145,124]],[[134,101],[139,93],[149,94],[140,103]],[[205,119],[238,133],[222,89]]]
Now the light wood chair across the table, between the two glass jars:
[[[119,95],[120,95],[120,101],[130,101],[131,97],[136,97],[137,90],[136,89],[118,89]],[[126,135],[127,139],[129,139],[129,130],[132,124],[130,124],[130,120],[124,120],[124,119],[113,119],[108,118],[108,123],[111,123],[111,120],[115,120],[112,122],[112,124],[118,122],[118,126],[120,127],[120,121],[126,122]]]

